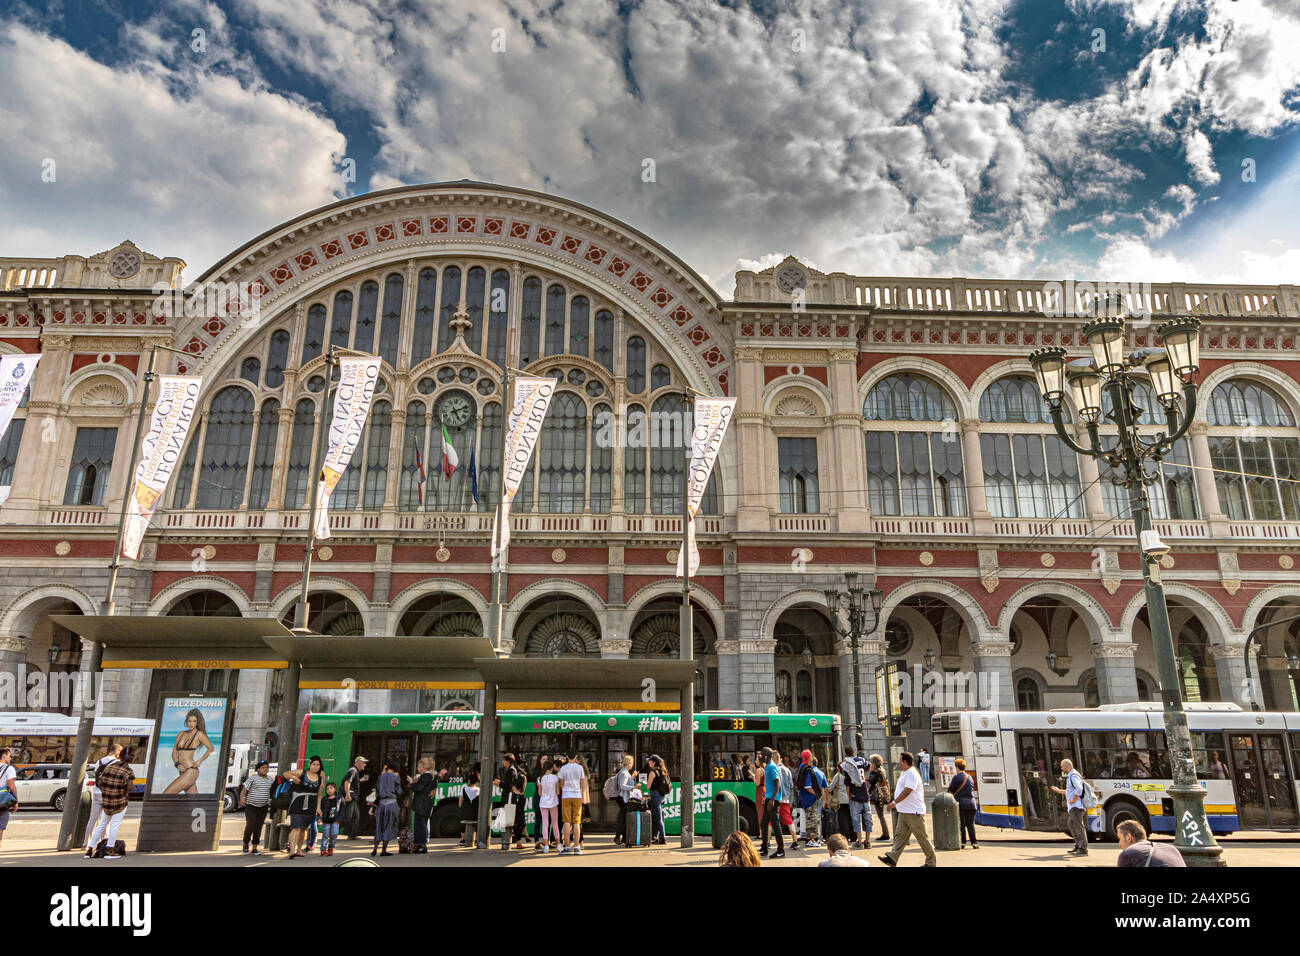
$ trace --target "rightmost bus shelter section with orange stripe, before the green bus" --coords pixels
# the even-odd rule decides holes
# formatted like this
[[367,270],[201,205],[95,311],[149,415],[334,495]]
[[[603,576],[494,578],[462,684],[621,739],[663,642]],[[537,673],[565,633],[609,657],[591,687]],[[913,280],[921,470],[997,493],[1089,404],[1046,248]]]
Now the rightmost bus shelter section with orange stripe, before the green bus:
[[[474,667],[484,682],[478,727],[484,793],[491,793],[497,765],[498,709],[506,710],[681,710],[682,691],[696,674],[694,661],[610,659],[586,657],[481,657]],[[686,722],[682,722],[686,726]],[[684,748],[689,752],[689,748]],[[486,847],[491,799],[478,801],[480,847]]]

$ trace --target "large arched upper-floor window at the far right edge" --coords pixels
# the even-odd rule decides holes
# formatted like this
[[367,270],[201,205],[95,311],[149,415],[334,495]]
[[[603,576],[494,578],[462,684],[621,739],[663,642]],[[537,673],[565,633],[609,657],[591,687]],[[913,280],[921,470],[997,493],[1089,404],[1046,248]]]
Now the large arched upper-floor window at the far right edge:
[[1300,438],[1282,398],[1256,382],[1223,382],[1210,394],[1206,420],[1223,514],[1236,520],[1300,520]]

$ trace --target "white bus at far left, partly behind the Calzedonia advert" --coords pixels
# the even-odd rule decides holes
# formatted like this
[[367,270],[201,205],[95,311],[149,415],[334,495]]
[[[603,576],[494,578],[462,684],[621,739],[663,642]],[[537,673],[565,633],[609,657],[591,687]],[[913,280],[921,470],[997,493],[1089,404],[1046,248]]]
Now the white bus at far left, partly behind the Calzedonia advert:
[[[13,763],[22,767],[32,763],[72,763],[77,745],[78,718],[66,714],[44,714],[36,710],[0,711],[0,747],[13,750]],[[144,793],[148,774],[150,739],[153,721],[134,717],[96,717],[91,730],[90,758],[94,763],[104,756],[109,744],[131,749],[131,769],[135,786],[131,792]]]

